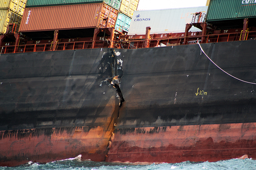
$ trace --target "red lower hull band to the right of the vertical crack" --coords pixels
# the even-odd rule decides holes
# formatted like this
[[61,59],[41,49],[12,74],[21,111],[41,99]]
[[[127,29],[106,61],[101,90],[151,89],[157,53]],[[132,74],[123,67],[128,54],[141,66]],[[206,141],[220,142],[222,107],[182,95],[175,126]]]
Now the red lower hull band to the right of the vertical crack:
[[256,158],[256,123],[116,129],[107,161],[218,161]]

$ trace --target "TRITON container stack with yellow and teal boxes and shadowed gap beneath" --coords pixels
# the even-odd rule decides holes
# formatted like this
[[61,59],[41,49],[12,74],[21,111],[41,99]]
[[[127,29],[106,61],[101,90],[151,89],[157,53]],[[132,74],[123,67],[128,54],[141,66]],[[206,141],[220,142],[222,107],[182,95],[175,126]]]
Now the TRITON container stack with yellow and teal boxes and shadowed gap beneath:
[[115,27],[117,32],[127,32],[138,1],[28,0],[20,32],[37,39],[52,38],[54,31],[64,38],[92,37],[94,28]]

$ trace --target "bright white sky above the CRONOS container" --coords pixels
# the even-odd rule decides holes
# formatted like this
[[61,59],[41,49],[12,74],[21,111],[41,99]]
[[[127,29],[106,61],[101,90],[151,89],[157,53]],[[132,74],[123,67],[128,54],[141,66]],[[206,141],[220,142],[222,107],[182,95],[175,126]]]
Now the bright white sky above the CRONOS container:
[[140,0],[137,10],[205,6],[207,0]]

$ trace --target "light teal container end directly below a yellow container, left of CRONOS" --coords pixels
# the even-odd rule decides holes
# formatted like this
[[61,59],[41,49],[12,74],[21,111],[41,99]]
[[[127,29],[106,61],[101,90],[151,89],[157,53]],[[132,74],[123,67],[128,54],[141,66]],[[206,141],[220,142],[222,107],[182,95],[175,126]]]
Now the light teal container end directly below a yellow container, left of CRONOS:
[[128,17],[127,15],[123,14],[122,12],[118,13],[116,19],[116,26],[115,30],[119,32],[126,31],[128,32],[132,18]]

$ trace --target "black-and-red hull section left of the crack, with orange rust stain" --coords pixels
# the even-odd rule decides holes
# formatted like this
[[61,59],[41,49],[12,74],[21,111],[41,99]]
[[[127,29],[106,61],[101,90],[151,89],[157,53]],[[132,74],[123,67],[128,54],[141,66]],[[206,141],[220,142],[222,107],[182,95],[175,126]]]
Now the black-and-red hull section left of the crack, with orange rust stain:
[[0,166],[79,154],[105,160],[119,110],[108,81],[116,76],[111,50],[9,54],[0,60]]

